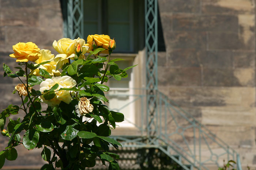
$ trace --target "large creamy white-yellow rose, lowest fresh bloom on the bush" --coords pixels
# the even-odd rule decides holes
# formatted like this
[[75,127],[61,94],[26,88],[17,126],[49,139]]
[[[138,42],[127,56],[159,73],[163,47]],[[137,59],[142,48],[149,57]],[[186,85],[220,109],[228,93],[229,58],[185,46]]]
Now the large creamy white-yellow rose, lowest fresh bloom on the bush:
[[[72,88],[76,85],[76,81],[69,76],[52,77],[47,78],[45,81],[42,81],[39,90],[41,93],[44,93],[44,90],[50,90],[50,88],[52,88],[52,86],[54,86],[56,83],[59,84],[59,87],[56,90],[59,90],[60,88]],[[51,100],[45,100],[44,97],[40,96],[41,101],[48,104],[48,106],[59,105],[61,101],[69,104],[72,101],[71,95],[74,96],[75,92],[60,90],[56,91],[55,94],[55,97]]]

